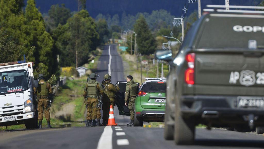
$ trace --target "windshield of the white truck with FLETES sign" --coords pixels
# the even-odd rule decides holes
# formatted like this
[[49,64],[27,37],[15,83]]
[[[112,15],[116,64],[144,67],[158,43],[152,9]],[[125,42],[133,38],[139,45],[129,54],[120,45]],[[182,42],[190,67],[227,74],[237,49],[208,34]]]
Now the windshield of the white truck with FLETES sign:
[[0,72],[0,93],[15,93],[29,88],[25,70]]

